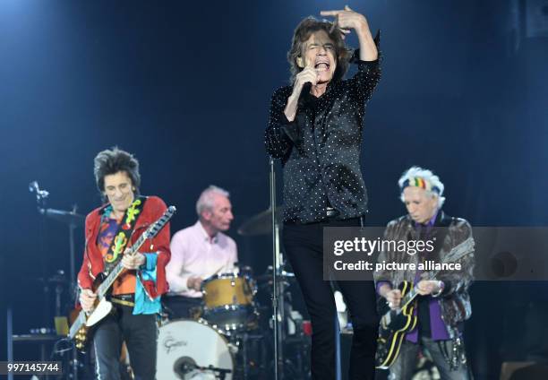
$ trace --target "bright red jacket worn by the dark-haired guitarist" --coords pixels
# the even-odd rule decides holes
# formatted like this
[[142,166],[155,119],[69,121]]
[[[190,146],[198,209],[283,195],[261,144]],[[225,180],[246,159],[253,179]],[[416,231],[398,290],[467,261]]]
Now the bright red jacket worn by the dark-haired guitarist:
[[[98,207],[86,217],[86,243],[84,247],[83,263],[81,263],[81,269],[78,273],[78,284],[81,289],[91,289],[95,278],[100,272],[103,272],[103,256],[98,249],[97,238],[101,215],[106,207],[107,205]],[[133,229],[131,244],[141,236],[151,223],[158,220],[166,210],[166,203],[158,198],[158,196],[147,197],[147,201],[145,202],[143,210]],[[157,298],[166,293],[168,289],[166,281],[166,264],[171,257],[169,236],[169,223],[167,223],[167,225],[158,232],[156,238],[145,240],[144,244],[139,249],[139,252],[141,253],[158,253],[156,283],[153,281],[141,281],[150,298]]]

